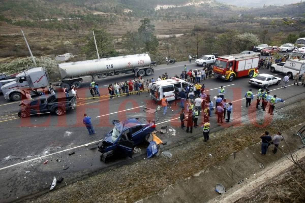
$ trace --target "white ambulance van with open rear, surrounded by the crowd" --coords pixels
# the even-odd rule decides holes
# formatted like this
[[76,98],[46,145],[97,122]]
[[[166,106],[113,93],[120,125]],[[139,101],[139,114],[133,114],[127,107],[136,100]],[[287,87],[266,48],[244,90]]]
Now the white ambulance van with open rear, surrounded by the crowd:
[[[167,80],[160,80],[152,83],[150,88],[150,97],[155,101],[161,101],[163,95],[167,101],[175,100],[175,93],[178,94],[181,89],[186,89],[189,86],[190,89],[194,89],[192,83],[186,82],[179,78],[170,78]],[[179,95],[178,95],[178,98]]]

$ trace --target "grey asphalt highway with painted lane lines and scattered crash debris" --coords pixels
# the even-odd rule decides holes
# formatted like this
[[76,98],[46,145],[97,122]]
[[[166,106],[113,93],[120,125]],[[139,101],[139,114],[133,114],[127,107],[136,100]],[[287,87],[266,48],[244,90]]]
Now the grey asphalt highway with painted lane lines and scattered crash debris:
[[[167,72],[169,76],[180,75],[184,65],[188,69],[200,69],[194,64],[178,62],[174,65],[158,65],[154,67],[154,75],[144,77],[144,79],[157,78],[159,75]],[[260,73],[270,73],[269,70],[260,70]],[[274,73],[277,77],[283,78],[281,73]],[[115,75],[104,79],[99,79],[99,91],[101,95],[107,95],[106,86],[109,83],[125,81],[133,78],[133,75]],[[237,122],[242,123],[242,116],[249,112],[256,111],[255,104],[251,108],[245,107],[244,94],[251,88],[253,94],[257,94],[258,88],[250,87],[249,78],[237,78],[233,82],[226,82],[219,79],[207,79],[203,83],[208,89],[207,93],[211,98],[217,95],[217,89],[224,86],[226,89],[225,98],[233,102],[233,111],[231,122],[229,124],[218,125],[215,121],[215,114],[210,117],[211,130],[229,127]],[[276,94],[279,98],[288,100],[301,93],[304,93],[303,86],[293,86],[292,81],[287,89],[282,89],[281,85],[270,86],[272,95]],[[89,83],[84,83],[84,87],[78,90],[81,98],[91,95],[88,89]],[[57,96],[63,96],[63,93],[57,93]],[[255,100],[254,100],[255,102]],[[110,131],[113,120],[124,120],[129,117],[146,117],[146,119],[155,120],[156,128],[167,125],[171,129],[169,133],[159,135],[163,142],[167,142],[166,147],[173,146],[187,138],[200,134],[200,128],[195,128],[193,134],[187,134],[180,128],[179,112],[180,108],[171,103],[167,114],[162,115],[162,110],[156,114],[144,112],[144,106],[156,107],[149,94],[145,91],[140,95],[131,95],[108,99],[84,99],[81,100],[75,110],[68,111],[64,116],[58,117],[54,114],[43,114],[32,116],[30,118],[20,119],[17,117],[19,103],[9,103],[0,96],[0,202],[11,202],[21,199],[25,196],[36,194],[38,192],[48,191],[53,177],[62,176],[65,185],[94,173],[101,172],[109,167],[117,167],[137,159],[146,157],[146,149],[142,148],[142,154],[133,155],[133,159],[122,158],[111,163],[100,161],[100,153],[96,146],[100,139]],[[287,103],[279,103],[276,108],[284,107]],[[258,110],[262,114],[262,110]],[[83,114],[87,113],[92,118],[92,123],[96,135],[89,137],[87,129],[82,124]],[[200,124],[200,119],[198,121]],[[176,130],[176,131],[173,131]],[[75,152],[70,155],[69,153]],[[61,159],[61,162],[57,162]],[[48,163],[43,164],[48,160]],[[26,171],[30,171],[26,173]]]

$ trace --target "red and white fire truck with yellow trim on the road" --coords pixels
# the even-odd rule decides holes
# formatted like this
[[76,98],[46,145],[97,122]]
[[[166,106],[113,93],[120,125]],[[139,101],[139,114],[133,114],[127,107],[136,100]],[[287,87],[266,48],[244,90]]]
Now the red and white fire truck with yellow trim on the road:
[[233,54],[219,56],[213,66],[215,78],[233,81],[234,78],[249,76],[253,77],[257,69],[259,56],[255,54]]

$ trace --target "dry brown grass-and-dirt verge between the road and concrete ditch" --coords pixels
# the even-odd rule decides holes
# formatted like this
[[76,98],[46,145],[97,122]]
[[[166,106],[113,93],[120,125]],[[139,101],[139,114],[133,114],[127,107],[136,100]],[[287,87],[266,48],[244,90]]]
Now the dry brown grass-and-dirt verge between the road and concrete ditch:
[[233,126],[212,133],[208,143],[199,138],[170,149],[173,154],[171,158],[160,155],[127,166],[111,168],[96,176],[24,202],[135,202],[156,194],[178,180],[221,163],[234,152],[260,142],[262,131],[276,133],[275,120],[282,129],[289,129],[303,122],[305,114],[299,109],[303,109],[304,105],[305,101],[300,101],[278,110],[277,114],[281,116],[278,119],[274,117],[263,128],[253,124]]

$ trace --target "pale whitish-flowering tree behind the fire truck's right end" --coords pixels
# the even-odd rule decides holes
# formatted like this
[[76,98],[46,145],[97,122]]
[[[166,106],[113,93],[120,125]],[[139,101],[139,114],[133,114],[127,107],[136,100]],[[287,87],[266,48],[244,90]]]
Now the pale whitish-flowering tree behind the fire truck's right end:
[[251,46],[258,44],[257,35],[252,33],[243,33],[236,36],[235,45],[238,52],[249,50]]

